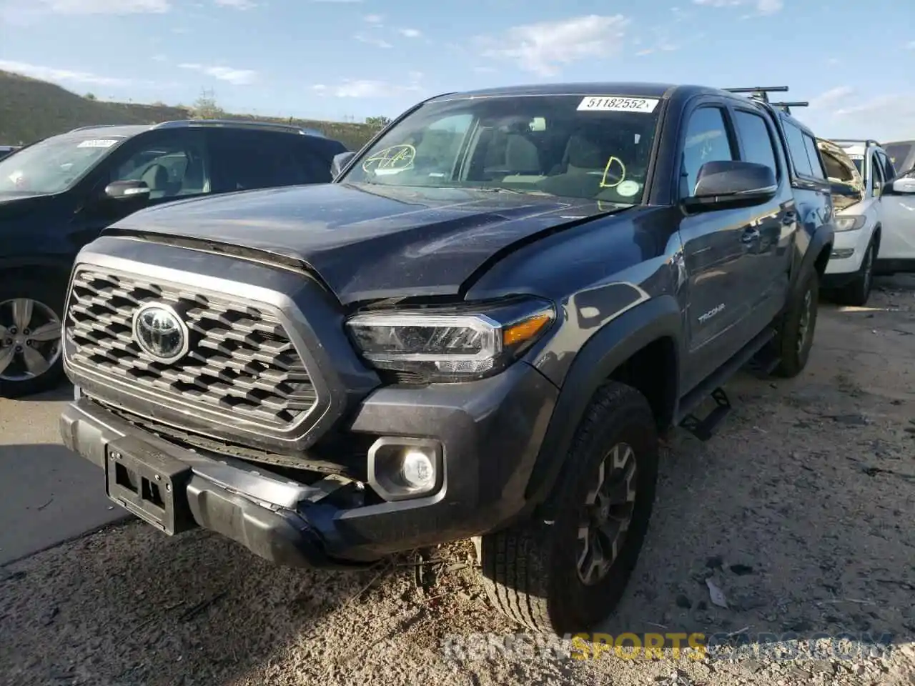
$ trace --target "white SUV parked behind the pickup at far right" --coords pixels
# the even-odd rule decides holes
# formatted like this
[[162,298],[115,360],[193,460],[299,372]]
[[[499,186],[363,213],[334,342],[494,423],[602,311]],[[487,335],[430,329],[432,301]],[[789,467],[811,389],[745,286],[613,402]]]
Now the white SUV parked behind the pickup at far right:
[[907,180],[891,183],[896,170],[877,141],[820,140],[817,145],[836,216],[823,290],[844,305],[865,305],[874,273],[905,271],[899,260],[915,258],[915,211],[905,207],[915,207],[915,195],[907,191]]

